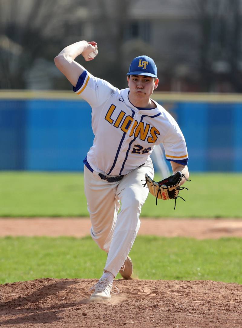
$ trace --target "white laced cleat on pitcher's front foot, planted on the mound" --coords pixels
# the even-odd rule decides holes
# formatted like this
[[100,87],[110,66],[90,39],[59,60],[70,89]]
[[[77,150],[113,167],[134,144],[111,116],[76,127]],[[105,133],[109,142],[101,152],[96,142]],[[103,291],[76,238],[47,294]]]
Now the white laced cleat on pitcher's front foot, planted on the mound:
[[[112,287],[116,288],[117,292],[113,292]],[[89,291],[93,289],[95,289],[95,291],[90,297],[91,302],[107,302],[111,299],[110,293],[119,294],[118,287],[114,286],[114,284],[110,283],[106,278],[101,278]]]

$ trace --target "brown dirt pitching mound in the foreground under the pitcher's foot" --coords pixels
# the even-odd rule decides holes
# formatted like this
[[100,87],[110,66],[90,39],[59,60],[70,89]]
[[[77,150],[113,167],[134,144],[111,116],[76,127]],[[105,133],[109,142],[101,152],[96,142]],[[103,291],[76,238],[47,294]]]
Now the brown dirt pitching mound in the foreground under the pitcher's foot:
[[95,279],[37,279],[0,285],[2,327],[242,326],[242,285],[214,281],[115,280],[109,303],[89,302]]

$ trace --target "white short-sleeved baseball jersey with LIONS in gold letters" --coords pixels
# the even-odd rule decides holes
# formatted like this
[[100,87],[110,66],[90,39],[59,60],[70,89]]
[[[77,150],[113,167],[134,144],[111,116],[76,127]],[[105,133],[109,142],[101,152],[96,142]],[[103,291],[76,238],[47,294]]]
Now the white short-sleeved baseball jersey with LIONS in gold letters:
[[73,91],[92,107],[95,135],[84,163],[90,170],[124,175],[146,163],[155,145],[163,143],[166,159],[187,164],[184,136],[174,118],[156,101],[156,108],[137,108],[129,88],[119,90],[84,71]]

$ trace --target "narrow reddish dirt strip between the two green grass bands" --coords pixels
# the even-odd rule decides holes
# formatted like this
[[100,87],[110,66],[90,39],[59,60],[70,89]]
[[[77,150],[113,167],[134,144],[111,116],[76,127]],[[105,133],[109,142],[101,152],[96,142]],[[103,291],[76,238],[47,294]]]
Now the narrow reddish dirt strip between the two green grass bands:
[[[89,218],[0,218],[0,237],[90,235]],[[242,237],[242,219],[141,218],[138,235],[194,237],[197,239]]]

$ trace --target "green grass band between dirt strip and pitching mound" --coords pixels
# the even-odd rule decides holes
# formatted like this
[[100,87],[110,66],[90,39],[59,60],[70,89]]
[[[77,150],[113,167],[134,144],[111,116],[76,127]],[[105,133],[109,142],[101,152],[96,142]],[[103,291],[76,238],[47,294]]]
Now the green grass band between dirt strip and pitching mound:
[[[242,283],[241,247],[241,238],[138,236],[130,256],[135,278]],[[0,254],[0,283],[44,277],[99,278],[106,261],[90,237],[5,237],[0,238]]]

